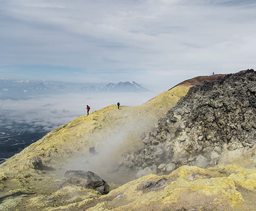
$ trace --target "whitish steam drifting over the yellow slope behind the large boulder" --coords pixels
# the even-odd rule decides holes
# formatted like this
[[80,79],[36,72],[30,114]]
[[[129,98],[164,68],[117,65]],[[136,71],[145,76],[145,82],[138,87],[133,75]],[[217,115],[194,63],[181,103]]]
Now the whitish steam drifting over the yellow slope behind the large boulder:
[[148,115],[147,119],[139,118],[139,116],[129,118],[134,117],[130,111],[126,113],[126,117],[128,117],[126,122],[116,126],[110,134],[106,133],[103,136],[98,131],[97,135],[90,137],[92,142],[96,143],[91,146],[95,147],[96,154],[90,154],[88,148],[85,148],[83,154],[69,159],[65,170],[93,171],[106,181],[119,184],[134,179],[135,172],[118,169],[118,164],[123,160],[123,152],[141,146],[140,139],[153,126],[154,116]]

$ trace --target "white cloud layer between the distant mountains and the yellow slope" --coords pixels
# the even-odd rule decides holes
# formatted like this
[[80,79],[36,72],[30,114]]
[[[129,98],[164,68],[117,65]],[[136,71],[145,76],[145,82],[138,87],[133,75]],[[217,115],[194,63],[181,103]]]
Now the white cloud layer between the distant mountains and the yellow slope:
[[[54,95],[29,100],[0,100],[1,128],[23,131],[53,130],[90,112],[102,109],[118,101],[122,105],[139,105],[157,94],[141,93],[87,93]],[[18,127],[19,126],[19,127]]]

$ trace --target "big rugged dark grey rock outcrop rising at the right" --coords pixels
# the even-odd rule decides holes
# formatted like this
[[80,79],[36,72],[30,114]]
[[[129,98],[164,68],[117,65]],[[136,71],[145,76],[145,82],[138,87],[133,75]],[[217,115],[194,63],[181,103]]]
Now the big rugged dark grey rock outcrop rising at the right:
[[[223,150],[252,148],[256,140],[256,74],[228,74],[190,88],[187,95],[147,134],[144,146],[124,154],[126,168],[214,166]],[[171,168],[169,168],[171,169]]]

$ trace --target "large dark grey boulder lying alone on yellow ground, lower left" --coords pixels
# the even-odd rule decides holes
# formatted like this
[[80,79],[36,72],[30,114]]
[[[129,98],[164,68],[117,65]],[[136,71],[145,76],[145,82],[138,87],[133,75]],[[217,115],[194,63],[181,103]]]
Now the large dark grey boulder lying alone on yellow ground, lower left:
[[68,185],[80,185],[99,191],[100,194],[108,194],[109,185],[92,171],[68,170],[65,178],[60,183],[60,188]]

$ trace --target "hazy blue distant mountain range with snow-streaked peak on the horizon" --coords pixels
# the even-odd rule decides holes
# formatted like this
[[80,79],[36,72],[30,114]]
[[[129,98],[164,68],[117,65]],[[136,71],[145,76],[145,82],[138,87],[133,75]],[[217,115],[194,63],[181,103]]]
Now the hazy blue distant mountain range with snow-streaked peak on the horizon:
[[0,79],[0,98],[26,98],[38,94],[61,94],[83,92],[149,92],[140,84],[132,82],[119,82],[104,84],[46,82],[29,80]]

